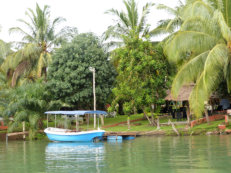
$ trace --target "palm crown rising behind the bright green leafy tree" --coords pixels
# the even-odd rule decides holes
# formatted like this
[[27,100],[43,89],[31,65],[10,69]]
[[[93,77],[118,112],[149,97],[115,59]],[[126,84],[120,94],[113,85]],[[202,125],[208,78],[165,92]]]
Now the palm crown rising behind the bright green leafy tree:
[[123,36],[145,38],[149,33],[149,25],[146,24],[146,19],[150,13],[150,8],[154,4],[147,3],[143,7],[142,15],[139,16],[135,0],[124,0],[123,3],[126,11],[118,11],[113,8],[106,11],[106,14],[116,17],[115,25],[109,26],[103,34],[104,40],[115,39],[110,42],[110,45],[121,45]]

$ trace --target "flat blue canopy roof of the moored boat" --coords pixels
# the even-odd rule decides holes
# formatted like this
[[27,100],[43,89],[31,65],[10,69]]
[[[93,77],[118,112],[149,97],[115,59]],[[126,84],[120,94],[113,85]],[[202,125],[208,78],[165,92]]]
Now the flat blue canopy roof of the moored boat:
[[85,115],[85,114],[98,114],[98,115],[107,115],[105,111],[91,111],[91,110],[81,110],[81,111],[47,111],[45,114],[54,114],[54,115]]

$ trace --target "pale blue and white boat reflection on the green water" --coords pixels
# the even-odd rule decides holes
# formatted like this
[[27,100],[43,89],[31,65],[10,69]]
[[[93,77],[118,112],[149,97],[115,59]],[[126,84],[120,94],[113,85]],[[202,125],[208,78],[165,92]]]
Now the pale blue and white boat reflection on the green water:
[[46,167],[48,172],[100,172],[104,152],[104,143],[49,143],[46,147]]

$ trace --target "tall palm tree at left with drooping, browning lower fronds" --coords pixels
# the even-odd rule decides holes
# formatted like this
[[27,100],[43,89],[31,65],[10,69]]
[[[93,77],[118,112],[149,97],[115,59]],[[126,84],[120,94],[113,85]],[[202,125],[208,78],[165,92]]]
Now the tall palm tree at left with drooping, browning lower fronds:
[[27,78],[40,78],[46,75],[46,67],[51,63],[51,51],[63,37],[63,31],[56,33],[56,27],[64,21],[58,17],[50,20],[49,6],[43,9],[36,4],[36,11],[28,9],[26,16],[29,20],[19,19],[27,30],[20,27],[13,27],[10,33],[16,32],[23,35],[22,42],[18,45],[21,48],[12,56],[7,57],[2,68],[5,73],[12,71],[12,86],[16,85],[17,79],[26,73]]

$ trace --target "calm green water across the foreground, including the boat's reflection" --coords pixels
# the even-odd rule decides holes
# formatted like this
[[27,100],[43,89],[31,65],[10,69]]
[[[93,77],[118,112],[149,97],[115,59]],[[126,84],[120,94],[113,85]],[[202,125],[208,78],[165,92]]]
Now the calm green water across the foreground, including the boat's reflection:
[[140,137],[122,143],[0,141],[0,172],[231,172],[231,136]]

